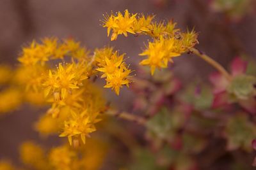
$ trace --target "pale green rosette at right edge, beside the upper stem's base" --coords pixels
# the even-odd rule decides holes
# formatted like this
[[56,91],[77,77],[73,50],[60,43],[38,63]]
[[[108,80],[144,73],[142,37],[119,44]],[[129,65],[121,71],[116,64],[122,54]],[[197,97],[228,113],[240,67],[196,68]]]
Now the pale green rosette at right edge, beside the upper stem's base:
[[253,87],[255,83],[255,76],[239,75],[233,78],[227,91],[236,96],[237,99],[248,99],[255,95],[255,88]]

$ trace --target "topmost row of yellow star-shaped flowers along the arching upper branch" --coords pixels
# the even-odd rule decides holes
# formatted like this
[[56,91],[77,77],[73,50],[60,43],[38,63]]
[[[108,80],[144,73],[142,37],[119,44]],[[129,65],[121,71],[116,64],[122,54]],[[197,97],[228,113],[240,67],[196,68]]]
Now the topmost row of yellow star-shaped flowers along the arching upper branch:
[[108,36],[110,32],[111,41],[116,40],[117,36],[124,34],[127,36],[127,32],[131,34],[147,34],[152,37],[159,37],[164,35],[173,36],[179,29],[175,29],[176,23],[172,21],[164,24],[164,22],[152,22],[154,16],[138,13],[131,14],[128,10],[124,11],[124,15],[118,11],[116,15],[104,15],[103,27],[108,28]]

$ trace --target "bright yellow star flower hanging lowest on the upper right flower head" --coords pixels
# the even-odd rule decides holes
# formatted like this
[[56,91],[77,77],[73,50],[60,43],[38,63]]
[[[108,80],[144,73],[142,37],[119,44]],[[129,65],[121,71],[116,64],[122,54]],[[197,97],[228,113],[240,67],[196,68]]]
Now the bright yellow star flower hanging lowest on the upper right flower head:
[[151,67],[151,74],[154,74],[156,68],[165,68],[168,66],[168,61],[173,62],[173,57],[178,57],[180,53],[174,51],[174,39],[163,38],[156,39],[150,42],[148,48],[140,55],[147,55],[148,59],[140,62],[141,65]]

